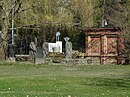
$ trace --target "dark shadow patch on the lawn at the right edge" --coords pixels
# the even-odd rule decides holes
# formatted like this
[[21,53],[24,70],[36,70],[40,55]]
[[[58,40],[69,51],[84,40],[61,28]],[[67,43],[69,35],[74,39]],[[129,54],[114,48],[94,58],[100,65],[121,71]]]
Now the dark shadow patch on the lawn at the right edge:
[[[129,75],[130,76],[130,75]],[[91,82],[82,85],[110,87],[113,89],[130,89],[130,77],[122,78],[92,78]]]

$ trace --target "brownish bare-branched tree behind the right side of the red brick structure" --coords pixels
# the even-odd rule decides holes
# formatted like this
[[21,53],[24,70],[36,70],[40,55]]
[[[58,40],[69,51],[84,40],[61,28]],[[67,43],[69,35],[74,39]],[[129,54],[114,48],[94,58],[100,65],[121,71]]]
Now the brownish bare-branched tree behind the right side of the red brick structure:
[[129,0],[107,0],[104,6],[104,17],[109,26],[119,28],[121,37],[125,39],[125,50],[122,52],[130,57],[130,1]]

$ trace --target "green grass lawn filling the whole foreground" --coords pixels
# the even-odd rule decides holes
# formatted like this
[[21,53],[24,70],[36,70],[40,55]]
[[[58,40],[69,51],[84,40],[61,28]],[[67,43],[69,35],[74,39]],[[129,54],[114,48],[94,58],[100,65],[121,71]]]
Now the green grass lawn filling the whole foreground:
[[1,63],[0,97],[130,97],[130,65]]

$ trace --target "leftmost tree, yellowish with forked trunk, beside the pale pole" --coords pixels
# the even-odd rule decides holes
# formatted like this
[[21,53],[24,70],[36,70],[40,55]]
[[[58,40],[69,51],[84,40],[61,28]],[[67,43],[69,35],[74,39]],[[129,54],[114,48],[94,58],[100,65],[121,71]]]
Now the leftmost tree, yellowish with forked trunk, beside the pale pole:
[[21,9],[21,4],[24,1],[21,0],[1,0],[1,30],[2,30],[2,49],[4,52],[5,58],[7,56],[7,47],[10,40],[12,38],[13,44],[13,37],[14,33],[11,33],[11,30],[14,31],[14,20],[16,16],[20,13],[19,10]]

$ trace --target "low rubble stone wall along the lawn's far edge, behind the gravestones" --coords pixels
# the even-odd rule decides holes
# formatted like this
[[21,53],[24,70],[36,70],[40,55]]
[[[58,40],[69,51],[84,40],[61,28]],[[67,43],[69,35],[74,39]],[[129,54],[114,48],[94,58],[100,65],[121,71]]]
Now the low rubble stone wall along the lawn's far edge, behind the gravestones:
[[100,64],[100,59],[98,57],[87,57],[87,58],[76,58],[76,59],[66,59],[61,57],[49,57],[40,58],[41,62],[35,62],[36,58],[32,59],[29,55],[16,55],[16,61],[29,61],[35,64],[48,64],[48,63],[58,63],[65,65],[88,65],[88,64]]

